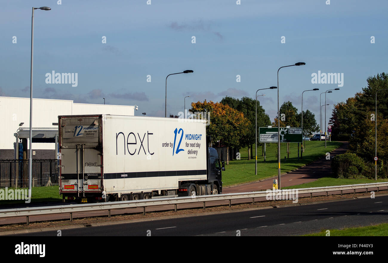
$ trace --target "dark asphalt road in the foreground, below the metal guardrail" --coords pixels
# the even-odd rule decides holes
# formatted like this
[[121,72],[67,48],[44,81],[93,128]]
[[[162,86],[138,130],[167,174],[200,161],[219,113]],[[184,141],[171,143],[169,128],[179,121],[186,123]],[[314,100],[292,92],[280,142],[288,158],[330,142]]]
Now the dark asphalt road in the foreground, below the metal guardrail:
[[[284,208],[121,223],[62,230],[62,236],[241,236],[303,235],[321,229],[366,226],[388,221],[388,195]],[[20,234],[56,236],[57,230]]]

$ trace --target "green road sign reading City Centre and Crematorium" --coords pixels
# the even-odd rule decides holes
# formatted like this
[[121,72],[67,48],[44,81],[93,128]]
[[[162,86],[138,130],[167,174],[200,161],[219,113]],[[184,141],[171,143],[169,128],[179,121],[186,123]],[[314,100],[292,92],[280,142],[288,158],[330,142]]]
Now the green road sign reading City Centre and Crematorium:
[[[259,127],[259,142],[277,142],[277,127]],[[302,142],[302,128],[280,128],[280,142]]]

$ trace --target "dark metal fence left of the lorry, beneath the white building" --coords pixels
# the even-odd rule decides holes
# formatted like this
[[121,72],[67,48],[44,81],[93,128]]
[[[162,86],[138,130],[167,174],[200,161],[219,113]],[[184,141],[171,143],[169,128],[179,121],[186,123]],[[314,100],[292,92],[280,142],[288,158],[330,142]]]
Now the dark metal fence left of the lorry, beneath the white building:
[[[0,159],[0,188],[28,187],[28,160]],[[32,187],[58,185],[58,160],[32,160]]]

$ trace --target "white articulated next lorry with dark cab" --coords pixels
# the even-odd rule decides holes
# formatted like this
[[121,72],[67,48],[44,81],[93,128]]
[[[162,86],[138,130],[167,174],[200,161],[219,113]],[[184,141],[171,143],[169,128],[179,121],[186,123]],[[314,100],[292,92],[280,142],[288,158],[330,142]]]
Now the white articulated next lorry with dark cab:
[[58,118],[64,202],[222,193],[224,163],[208,147],[203,120],[105,114]]

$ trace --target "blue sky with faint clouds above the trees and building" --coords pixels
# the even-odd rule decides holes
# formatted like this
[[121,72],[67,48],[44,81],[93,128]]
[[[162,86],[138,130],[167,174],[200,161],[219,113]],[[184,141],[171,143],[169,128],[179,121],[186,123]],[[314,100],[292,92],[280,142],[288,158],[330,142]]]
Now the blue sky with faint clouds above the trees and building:
[[[318,121],[320,93],[338,85],[312,84],[312,73],[344,75],[343,87],[327,95],[328,119],[369,76],[387,72],[386,0],[0,2],[0,96],[29,97],[32,4],[52,8],[35,10],[35,98],[103,104],[105,97],[106,104],[136,104],[137,115],[164,116],[166,76],[192,69],[168,77],[167,114],[175,115],[188,95],[186,108],[226,95],[254,98],[257,89],[277,86],[279,67],[306,62],[281,69],[280,104],[290,100],[300,111],[303,90],[319,88],[303,95],[303,109]],[[53,70],[78,73],[78,86],[47,84]],[[273,120],[277,92],[264,93],[258,99]]]

